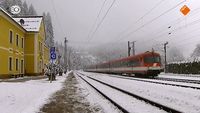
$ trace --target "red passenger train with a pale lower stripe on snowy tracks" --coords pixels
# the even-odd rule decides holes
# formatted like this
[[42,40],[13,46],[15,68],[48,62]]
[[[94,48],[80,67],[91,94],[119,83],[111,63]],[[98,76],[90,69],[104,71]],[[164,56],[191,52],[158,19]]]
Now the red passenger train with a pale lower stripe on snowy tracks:
[[84,69],[86,72],[134,75],[138,77],[155,77],[163,70],[160,54],[154,51],[89,65]]

